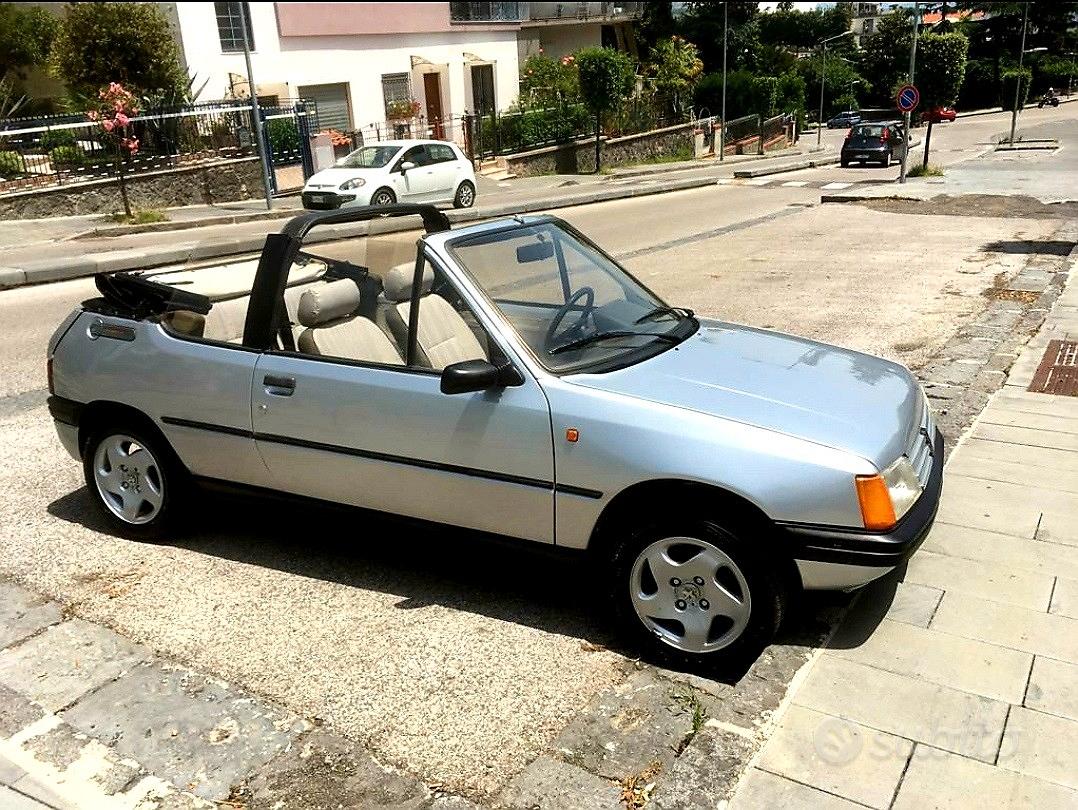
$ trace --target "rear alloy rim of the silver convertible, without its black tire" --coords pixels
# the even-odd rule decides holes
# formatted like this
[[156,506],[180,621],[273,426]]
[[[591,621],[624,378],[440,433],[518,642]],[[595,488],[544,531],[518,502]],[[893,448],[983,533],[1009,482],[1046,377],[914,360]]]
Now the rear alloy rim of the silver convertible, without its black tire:
[[113,434],[94,453],[94,483],[109,511],[132,525],[149,523],[165,503],[161,465],[137,439]]

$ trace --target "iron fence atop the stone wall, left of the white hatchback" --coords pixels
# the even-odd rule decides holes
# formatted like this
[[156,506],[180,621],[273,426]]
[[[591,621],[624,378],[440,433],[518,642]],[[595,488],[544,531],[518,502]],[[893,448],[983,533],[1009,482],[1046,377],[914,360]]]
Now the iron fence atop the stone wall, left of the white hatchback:
[[[303,164],[307,174],[314,102],[278,104],[262,114],[274,165]],[[130,121],[139,148],[127,157],[83,113],[0,121],[0,194],[115,177],[121,161],[125,175],[138,175],[258,153],[249,101],[143,110]]]

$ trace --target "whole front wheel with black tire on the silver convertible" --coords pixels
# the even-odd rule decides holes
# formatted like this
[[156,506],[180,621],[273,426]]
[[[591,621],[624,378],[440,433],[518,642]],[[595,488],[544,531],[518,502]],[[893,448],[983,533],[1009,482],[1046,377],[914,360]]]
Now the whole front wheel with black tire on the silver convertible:
[[[700,672],[758,656],[782,623],[787,589],[774,558],[749,543],[752,534],[747,526],[690,518],[644,526],[617,544],[610,598],[628,643],[648,659]],[[671,560],[680,562],[668,565]]]

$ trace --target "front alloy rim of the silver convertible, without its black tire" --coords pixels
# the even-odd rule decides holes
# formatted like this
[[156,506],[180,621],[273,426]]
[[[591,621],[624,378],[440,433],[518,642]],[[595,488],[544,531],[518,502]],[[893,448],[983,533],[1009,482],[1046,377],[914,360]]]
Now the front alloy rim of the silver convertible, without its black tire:
[[630,575],[630,596],[648,630],[693,654],[733,644],[751,612],[748,581],[737,563],[695,537],[665,537],[640,551]]

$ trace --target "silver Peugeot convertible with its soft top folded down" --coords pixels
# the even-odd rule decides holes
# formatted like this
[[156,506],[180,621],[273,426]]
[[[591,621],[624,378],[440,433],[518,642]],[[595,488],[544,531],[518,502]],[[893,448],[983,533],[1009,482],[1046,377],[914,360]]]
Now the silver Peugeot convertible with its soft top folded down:
[[936,516],[906,368],[667,305],[554,217],[312,212],[259,259],[97,286],[49,404],[134,537],[217,484],[578,550],[633,646],[693,667],[894,569]]

